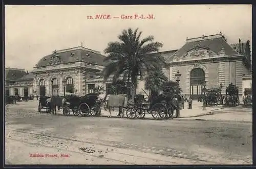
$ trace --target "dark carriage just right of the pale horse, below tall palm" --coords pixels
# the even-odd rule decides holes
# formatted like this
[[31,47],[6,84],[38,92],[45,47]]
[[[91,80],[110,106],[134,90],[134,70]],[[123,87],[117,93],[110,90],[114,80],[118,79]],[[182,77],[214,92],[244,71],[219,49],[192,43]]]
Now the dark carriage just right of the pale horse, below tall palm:
[[128,118],[144,118],[145,114],[151,114],[155,119],[168,119],[173,116],[174,106],[172,97],[166,93],[158,95],[151,102],[145,102],[143,94],[137,94],[135,104],[126,110]]

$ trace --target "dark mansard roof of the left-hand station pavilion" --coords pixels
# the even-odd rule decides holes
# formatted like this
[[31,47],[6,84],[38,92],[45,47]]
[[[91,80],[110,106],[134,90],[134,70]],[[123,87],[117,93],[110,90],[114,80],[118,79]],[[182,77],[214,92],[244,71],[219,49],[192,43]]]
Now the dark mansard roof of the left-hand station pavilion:
[[[80,61],[105,66],[105,62],[103,62],[105,56],[101,55],[97,51],[89,50],[81,46],[75,47],[73,50],[70,49],[66,51],[57,51],[56,55],[60,57],[61,63],[71,63]],[[53,54],[41,58],[37,63],[36,67],[47,66],[52,56]]]

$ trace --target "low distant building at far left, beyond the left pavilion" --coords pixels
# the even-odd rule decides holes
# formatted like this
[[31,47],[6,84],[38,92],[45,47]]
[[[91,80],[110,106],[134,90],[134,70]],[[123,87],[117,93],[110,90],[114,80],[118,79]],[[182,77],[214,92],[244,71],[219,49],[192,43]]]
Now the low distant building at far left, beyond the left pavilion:
[[6,96],[29,96],[33,95],[33,74],[26,73],[25,69],[5,69],[5,92]]

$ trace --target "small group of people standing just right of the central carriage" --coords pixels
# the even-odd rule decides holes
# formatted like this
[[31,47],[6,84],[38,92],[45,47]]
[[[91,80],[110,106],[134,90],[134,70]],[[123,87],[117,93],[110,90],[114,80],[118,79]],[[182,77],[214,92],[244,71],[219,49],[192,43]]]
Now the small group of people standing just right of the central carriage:
[[180,117],[180,109],[184,109],[185,102],[188,102],[188,109],[192,109],[193,100],[190,97],[189,99],[187,99],[186,95],[185,96],[175,95],[172,102],[176,109],[177,118]]

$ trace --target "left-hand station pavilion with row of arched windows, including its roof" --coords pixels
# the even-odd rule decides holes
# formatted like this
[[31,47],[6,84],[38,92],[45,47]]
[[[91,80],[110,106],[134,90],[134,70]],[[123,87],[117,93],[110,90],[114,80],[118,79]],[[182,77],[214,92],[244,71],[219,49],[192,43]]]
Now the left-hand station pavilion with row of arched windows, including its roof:
[[[65,92],[85,95],[88,93],[87,81],[95,79],[96,73],[103,69],[104,57],[82,46],[54,51],[52,55],[42,58],[34,68],[34,91],[37,95],[42,94],[40,81],[44,81],[45,95],[62,95],[64,88]],[[53,79],[55,82],[57,79],[54,90]]]

